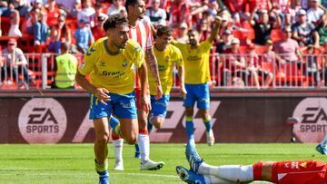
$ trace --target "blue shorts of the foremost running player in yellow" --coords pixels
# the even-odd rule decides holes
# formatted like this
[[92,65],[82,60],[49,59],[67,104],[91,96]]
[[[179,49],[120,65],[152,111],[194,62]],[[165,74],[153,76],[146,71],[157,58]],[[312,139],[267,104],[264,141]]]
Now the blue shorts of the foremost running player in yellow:
[[98,101],[94,94],[90,93],[90,120],[110,117],[112,113],[117,118],[137,119],[137,111],[135,104],[135,93],[116,94],[109,93],[110,102],[104,105]]

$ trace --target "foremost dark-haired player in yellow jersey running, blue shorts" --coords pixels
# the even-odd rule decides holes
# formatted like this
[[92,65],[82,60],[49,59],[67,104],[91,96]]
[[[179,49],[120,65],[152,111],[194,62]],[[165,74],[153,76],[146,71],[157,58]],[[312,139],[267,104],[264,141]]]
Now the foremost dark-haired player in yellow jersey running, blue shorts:
[[[139,44],[128,39],[128,20],[124,15],[110,15],[104,22],[106,37],[97,40],[84,55],[84,63],[75,75],[76,82],[90,92],[90,119],[95,130],[95,169],[99,183],[109,183],[107,143],[111,113],[119,119],[120,135],[129,144],[138,136],[134,94],[134,65],[141,81],[140,102],[145,101],[144,83],[147,80],[144,55]],[[85,79],[90,75],[90,82]]]

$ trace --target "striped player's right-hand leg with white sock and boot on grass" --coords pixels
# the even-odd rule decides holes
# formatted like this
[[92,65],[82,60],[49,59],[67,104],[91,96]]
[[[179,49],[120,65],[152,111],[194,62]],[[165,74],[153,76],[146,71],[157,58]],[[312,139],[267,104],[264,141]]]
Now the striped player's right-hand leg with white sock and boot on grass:
[[147,117],[148,113],[144,110],[137,110],[138,123],[139,123],[139,135],[138,135],[138,146],[141,153],[141,169],[161,169],[164,162],[155,162],[150,160],[150,139],[149,132],[147,131]]

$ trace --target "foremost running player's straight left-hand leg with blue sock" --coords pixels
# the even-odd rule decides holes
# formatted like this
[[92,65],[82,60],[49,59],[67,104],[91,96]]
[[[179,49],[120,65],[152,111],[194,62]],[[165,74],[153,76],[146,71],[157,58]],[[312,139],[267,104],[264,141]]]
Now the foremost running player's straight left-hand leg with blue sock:
[[108,148],[109,125],[106,117],[94,119],[95,142],[95,170],[99,174],[100,183],[109,183],[108,173]]

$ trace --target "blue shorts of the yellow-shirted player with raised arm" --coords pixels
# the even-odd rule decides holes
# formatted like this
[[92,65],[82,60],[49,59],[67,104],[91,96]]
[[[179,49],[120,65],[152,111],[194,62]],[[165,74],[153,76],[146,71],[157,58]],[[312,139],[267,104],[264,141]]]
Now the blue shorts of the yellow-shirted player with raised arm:
[[198,109],[207,110],[210,108],[210,93],[208,82],[201,84],[185,83],[186,98],[183,101],[183,106],[193,107],[195,102]]

